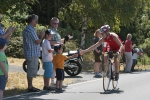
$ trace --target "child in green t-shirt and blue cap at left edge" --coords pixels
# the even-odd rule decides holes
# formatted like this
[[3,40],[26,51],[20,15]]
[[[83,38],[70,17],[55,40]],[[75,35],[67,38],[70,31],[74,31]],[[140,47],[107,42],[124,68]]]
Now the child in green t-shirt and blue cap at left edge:
[[3,97],[3,91],[8,79],[8,62],[6,55],[4,53],[7,48],[7,41],[3,38],[0,38],[0,100]]

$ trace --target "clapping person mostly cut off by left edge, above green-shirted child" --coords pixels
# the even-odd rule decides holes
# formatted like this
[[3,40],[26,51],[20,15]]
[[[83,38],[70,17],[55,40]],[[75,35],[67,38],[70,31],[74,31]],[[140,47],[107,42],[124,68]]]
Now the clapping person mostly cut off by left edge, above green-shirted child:
[[4,25],[1,23],[2,21],[2,14],[0,13],[0,38],[4,38],[6,40],[9,40],[10,35],[12,32],[14,32],[15,28],[10,26],[7,31],[5,32],[3,27]]

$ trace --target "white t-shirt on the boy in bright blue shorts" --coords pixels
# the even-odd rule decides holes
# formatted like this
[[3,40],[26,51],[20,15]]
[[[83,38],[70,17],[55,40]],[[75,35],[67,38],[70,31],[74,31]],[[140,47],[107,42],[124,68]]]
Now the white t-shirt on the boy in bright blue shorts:
[[42,61],[43,62],[49,62],[52,61],[53,55],[52,53],[49,53],[48,50],[51,50],[50,42],[47,39],[44,39],[42,41]]

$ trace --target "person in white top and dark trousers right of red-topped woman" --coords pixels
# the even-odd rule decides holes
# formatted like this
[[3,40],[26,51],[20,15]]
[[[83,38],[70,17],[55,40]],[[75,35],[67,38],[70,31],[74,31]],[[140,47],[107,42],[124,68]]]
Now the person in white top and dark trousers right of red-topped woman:
[[132,67],[131,67],[131,71],[135,71],[134,67],[137,64],[137,57],[138,56],[142,56],[142,51],[140,51],[139,48],[136,47],[136,44],[133,45],[133,52],[132,52]]

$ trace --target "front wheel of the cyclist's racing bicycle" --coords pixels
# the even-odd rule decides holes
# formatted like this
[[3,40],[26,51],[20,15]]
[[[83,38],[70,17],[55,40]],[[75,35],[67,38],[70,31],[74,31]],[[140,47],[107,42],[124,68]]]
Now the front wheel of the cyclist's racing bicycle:
[[104,66],[103,69],[103,90],[108,91],[111,81],[111,69],[110,64]]

